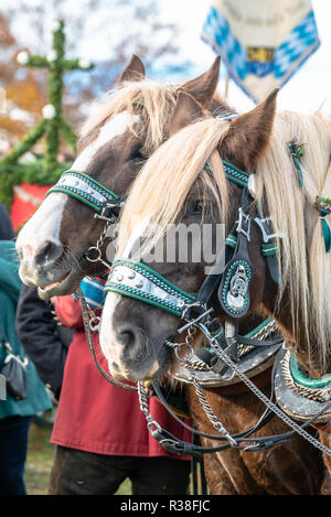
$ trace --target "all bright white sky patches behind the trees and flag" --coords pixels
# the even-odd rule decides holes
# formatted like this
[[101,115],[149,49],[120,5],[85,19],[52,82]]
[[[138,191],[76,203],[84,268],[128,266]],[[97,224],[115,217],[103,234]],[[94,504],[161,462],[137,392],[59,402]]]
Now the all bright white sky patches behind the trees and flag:
[[[0,3],[9,1],[12,0],[0,0]],[[25,1],[26,3],[38,3],[40,0]],[[139,0],[136,1],[139,2]],[[179,63],[186,60],[194,61],[196,64],[196,74],[207,69],[212,64],[215,54],[207,44],[202,42],[200,34],[210,7],[210,1],[154,1],[159,3],[162,21],[169,21],[180,25],[179,37],[173,42],[173,44],[179,49],[179,55],[175,57],[175,62]],[[75,13],[75,15],[79,13],[79,4],[82,9],[81,2],[84,3],[84,0],[67,0],[68,8],[72,10],[71,12]],[[278,95],[278,108],[311,112],[324,103],[324,111],[330,112],[331,115],[331,1],[312,0],[312,7],[317,19],[321,46],[306,62],[302,68],[292,76],[289,83],[281,88]],[[52,13],[50,12],[50,18],[51,14]],[[104,34],[105,39],[107,35],[106,42],[103,40],[102,31],[98,31],[97,29],[103,13],[90,13],[88,20],[88,33],[90,34],[90,37],[84,37],[82,42],[79,42],[79,56],[92,61],[106,58],[107,54],[109,56],[109,32],[111,37],[116,39],[116,34],[125,31],[126,25],[124,10],[119,13],[111,11],[111,0],[107,3],[107,15],[109,14],[109,30],[107,30],[107,34]],[[20,35],[20,40],[23,45],[24,40],[28,44],[33,41],[33,26],[26,26],[26,21],[25,23],[19,24],[17,33]],[[135,42],[132,42],[132,46],[135,46],[134,43]],[[223,69],[222,77],[225,75],[224,72],[225,71]],[[218,89],[221,94],[224,91],[224,78],[221,78]],[[245,111],[254,106],[253,101],[233,82],[229,84],[228,101],[239,111]]]

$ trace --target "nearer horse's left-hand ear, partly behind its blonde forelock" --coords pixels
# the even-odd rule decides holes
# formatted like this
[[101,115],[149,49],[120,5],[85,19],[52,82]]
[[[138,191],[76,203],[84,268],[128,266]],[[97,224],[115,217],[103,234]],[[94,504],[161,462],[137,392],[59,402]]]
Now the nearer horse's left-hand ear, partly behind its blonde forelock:
[[202,106],[196,103],[192,95],[180,90],[169,121],[169,137],[201,118],[203,115],[204,110]]

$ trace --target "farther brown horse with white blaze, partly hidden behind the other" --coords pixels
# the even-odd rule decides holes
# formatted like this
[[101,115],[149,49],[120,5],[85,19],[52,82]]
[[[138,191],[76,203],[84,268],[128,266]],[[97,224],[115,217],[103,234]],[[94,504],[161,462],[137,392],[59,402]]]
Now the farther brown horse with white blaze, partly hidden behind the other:
[[[218,61],[206,74],[183,85],[160,85],[141,79],[143,66],[134,57],[120,78],[122,86],[83,128],[73,169],[87,172],[108,190],[124,195],[146,158],[167,139],[179,88],[185,89],[206,106],[214,94],[217,75]],[[201,106],[196,106],[199,117]],[[221,107],[221,111],[224,109],[227,108]],[[103,262],[87,260],[88,250],[96,244],[103,228],[103,219],[94,218],[88,206],[66,193],[52,193],[18,239],[23,280],[39,286],[43,298],[74,291],[83,276],[99,273],[105,269]],[[102,259],[109,260],[105,243],[102,252]],[[258,414],[256,409],[259,410],[252,407],[254,414],[250,420]],[[239,430],[243,430],[242,426],[244,422],[238,422]],[[310,457],[310,452],[306,451],[305,454]],[[220,467],[217,485],[226,468],[224,471]],[[247,481],[249,474],[244,463],[237,463],[236,470],[241,470],[242,477],[246,480],[243,481],[243,492],[246,493],[246,485],[249,485],[248,493],[256,493],[256,482],[252,478]],[[310,472],[311,476],[305,476],[307,486],[302,488],[307,493],[317,492],[320,483],[320,475],[316,473],[312,461]],[[223,480],[222,483],[226,485],[227,474],[224,474]],[[281,492],[274,478],[271,484],[276,492]],[[220,486],[215,489],[218,491]],[[222,489],[228,492],[228,488]],[[297,487],[289,488],[286,493],[296,491]]]

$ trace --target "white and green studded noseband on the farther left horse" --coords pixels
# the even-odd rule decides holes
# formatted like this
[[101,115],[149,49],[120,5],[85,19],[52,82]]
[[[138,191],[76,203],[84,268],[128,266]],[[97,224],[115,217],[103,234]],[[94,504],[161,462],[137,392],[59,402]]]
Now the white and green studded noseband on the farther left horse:
[[108,191],[93,177],[84,172],[68,170],[60,177],[58,182],[49,190],[47,194],[63,192],[88,205],[95,212],[102,212],[106,205],[114,205],[119,197]]

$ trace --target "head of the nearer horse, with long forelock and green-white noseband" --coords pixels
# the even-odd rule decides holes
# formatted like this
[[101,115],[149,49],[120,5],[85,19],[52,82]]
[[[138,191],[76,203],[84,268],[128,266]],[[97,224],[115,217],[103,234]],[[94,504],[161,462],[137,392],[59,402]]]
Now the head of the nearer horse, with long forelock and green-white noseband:
[[[100,327],[100,344],[113,376],[141,380],[161,377],[171,367],[171,346],[167,344],[178,340],[183,308],[196,299],[210,266],[200,230],[207,227],[215,244],[217,227],[223,225],[227,235],[237,220],[243,189],[238,181],[228,180],[227,164],[235,179],[238,171],[254,170],[269,143],[276,94],[232,120],[212,118],[191,95],[179,95],[169,125],[172,137],[147,161],[121,218]],[[192,119],[199,120],[191,123]],[[172,225],[184,234],[173,234]],[[260,233],[252,227],[252,312],[259,306],[265,289],[260,245]],[[196,249],[201,251],[197,259]],[[213,305],[224,319],[216,293]]]

